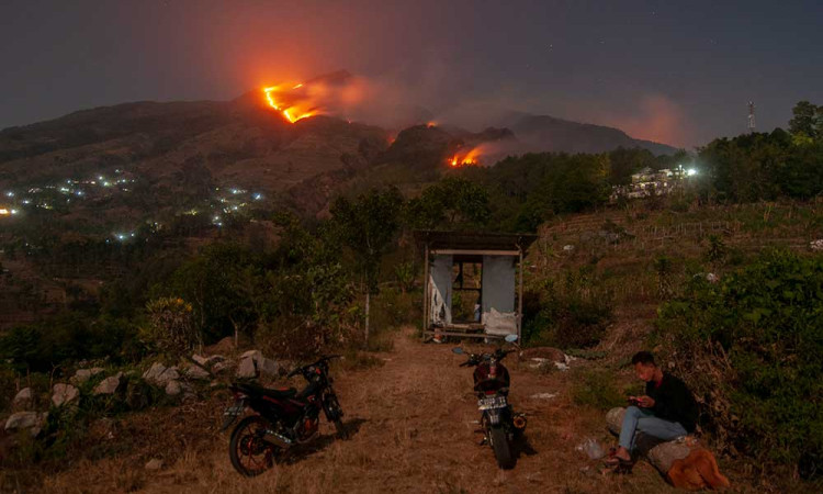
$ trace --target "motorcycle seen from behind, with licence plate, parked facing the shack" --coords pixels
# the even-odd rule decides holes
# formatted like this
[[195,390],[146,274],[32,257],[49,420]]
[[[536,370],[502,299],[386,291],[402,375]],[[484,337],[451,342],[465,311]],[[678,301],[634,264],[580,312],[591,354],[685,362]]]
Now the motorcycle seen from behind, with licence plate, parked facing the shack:
[[[517,335],[508,335],[507,343],[517,341]],[[452,352],[467,355],[469,360],[460,367],[474,367],[474,391],[477,394],[477,408],[481,411],[481,428],[483,441],[489,445],[495,453],[497,464],[501,469],[515,467],[512,445],[526,431],[526,415],[515,413],[508,403],[511,379],[509,371],[500,361],[515,350],[498,348],[492,353],[465,353],[455,347]]]

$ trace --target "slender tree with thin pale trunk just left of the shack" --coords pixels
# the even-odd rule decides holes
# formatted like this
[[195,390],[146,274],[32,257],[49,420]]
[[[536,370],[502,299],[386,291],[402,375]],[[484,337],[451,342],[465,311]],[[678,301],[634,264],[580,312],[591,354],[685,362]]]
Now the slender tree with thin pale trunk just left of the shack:
[[365,291],[365,340],[369,340],[369,304],[377,287],[380,260],[399,228],[403,195],[396,188],[372,189],[354,200],[338,198],[331,204],[331,221],[342,244],[354,255]]

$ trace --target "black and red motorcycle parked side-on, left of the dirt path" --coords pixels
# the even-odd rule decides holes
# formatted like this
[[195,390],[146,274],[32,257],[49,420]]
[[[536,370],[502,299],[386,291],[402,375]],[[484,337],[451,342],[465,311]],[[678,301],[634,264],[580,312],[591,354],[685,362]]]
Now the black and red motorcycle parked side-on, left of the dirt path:
[[301,374],[307,381],[300,392],[294,388],[272,390],[237,381],[229,386],[235,403],[225,409],[221,431],[228,429],[247,408],[253,412],[232,431],[228,457],[235,470],[246,476],[259,475],[292,447],[314,439],[320,411],[335,425],[338,437],[347,437],[343,412],[329,375],[329,361],[339,357],[325,356],[291,371],[289,378]]

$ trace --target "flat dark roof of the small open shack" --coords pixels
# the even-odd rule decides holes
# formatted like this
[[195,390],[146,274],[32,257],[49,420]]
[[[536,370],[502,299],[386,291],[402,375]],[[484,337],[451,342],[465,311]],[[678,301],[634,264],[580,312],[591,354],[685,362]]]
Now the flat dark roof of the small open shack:
[[414,232],[419,246],[428,245],[430,250],[520,250],[523,251],[538,239],[532,234],[507,234],[492,232],[443,232],[418,229]]

